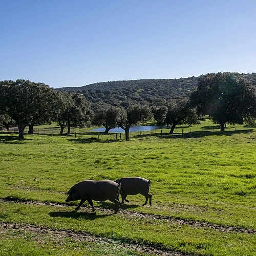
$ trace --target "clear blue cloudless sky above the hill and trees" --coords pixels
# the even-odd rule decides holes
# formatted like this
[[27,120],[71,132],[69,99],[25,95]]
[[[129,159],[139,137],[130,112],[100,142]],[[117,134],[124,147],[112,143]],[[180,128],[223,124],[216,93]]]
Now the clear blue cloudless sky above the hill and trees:
[[0,80],[256,72],[255,0],[0,0]]

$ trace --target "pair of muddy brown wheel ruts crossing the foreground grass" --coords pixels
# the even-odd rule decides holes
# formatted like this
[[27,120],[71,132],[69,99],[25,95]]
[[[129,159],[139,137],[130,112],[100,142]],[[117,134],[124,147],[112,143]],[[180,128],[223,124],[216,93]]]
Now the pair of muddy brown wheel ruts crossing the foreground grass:
[[[61,208],[70,208],[70,206],[67,206],[66,204],[56,204],[56,203],[41,203],[41,202],[34,202],[34,201],[19,201],[19,200],[3,200],[0,199],[0,202],[14,202],[14,203],[23,203],[23,204],[32,204],[32,205],[49,205],[53,207],[61,207]],[[113,210],[97,207],[97,210],[103,211],[103,212],[113,212]],[[204,223],[200,221],[189,221],[189,220],[178,220],[171,217],[163,217],[163,216],[157,216],[152,214],[145,214],[143,212],[137,212],[137,211],[127,211],[119,209],[118,214],[123,214],[129,217],[140,217],[140,218],[147,218],[152,220],[163,220],[166,222],[174,222],[179,224],[186,224],[190,225],[192,227],[206,227],[206,228],[212,228],[221,232],[242,232],[242,233],[250,233],[250,234],[256,234],[256,230],[252,229],[244,229],[239,227],[225,227],[221,225],[214,225],[210,223]],[[178,252],[173,252],[166,250],[165,248],[135,243],[132,241],[124,241],[124,240],[114,240],[110,238],[105,237],[98,237],[94,236],[91,233],[83,232],[83,231],[72,231],[72,230],[62,230],[62,229],[53,229],[53,228],[47,228],[44,226],[34,226],[34,225],[24,225],[19,223],[8,223],[8,222],[0,222],[0,229],[4,230],[24,230],[24,231],[30,231],[36,234],[47,234],[49,236],[55,236],[58,238],[65,238],[65,237],[71,237],[77,241],[88,241],[88,242],[96,242],[100,244],[108,244],[108,245],[115,245],[119,248],[129,248],[132,250],[140,251],[143,253],[148,254],[155,254],[160,256],[189,256],[189,254],[183,254]]]

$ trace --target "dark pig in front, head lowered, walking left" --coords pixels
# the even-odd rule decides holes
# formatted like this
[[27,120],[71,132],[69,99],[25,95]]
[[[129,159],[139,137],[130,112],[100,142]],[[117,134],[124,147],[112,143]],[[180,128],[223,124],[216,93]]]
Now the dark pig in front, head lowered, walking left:
[[69,196],[66,199],[66,202],[81,200],[79,205],[75,208],[75,211],[79,210],[86,200],[92,206],[93,211],[95,211],[95,208],[92,200],[110,200],[115,203],[115,214],[120,206],[120,184],[111,180],[84,180],[71,187],[67,194]]

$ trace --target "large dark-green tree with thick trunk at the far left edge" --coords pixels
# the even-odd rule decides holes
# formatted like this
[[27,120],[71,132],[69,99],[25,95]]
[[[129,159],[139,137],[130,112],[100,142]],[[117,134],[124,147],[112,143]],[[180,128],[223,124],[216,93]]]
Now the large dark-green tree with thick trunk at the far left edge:
[[27,125],[49,121],[50,97],[54,93],[44,83],[22,79],[0,81],[0,109],[15,120],[20,138],[24,138]]

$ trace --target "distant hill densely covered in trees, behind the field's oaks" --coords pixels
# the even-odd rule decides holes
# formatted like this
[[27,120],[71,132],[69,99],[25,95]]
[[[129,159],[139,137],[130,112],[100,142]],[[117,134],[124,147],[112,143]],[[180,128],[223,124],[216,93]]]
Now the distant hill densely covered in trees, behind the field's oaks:
[[[245,74],[256,87],[256,73]],[[188,96],[197,87],[198,77],[179,79],[140,79],[125,81],[97,82],[82,87],[65,87],[57,91],[83,94],[92,103],[104,101],[117,105],[123,101],[143,101],[150,103]]]

